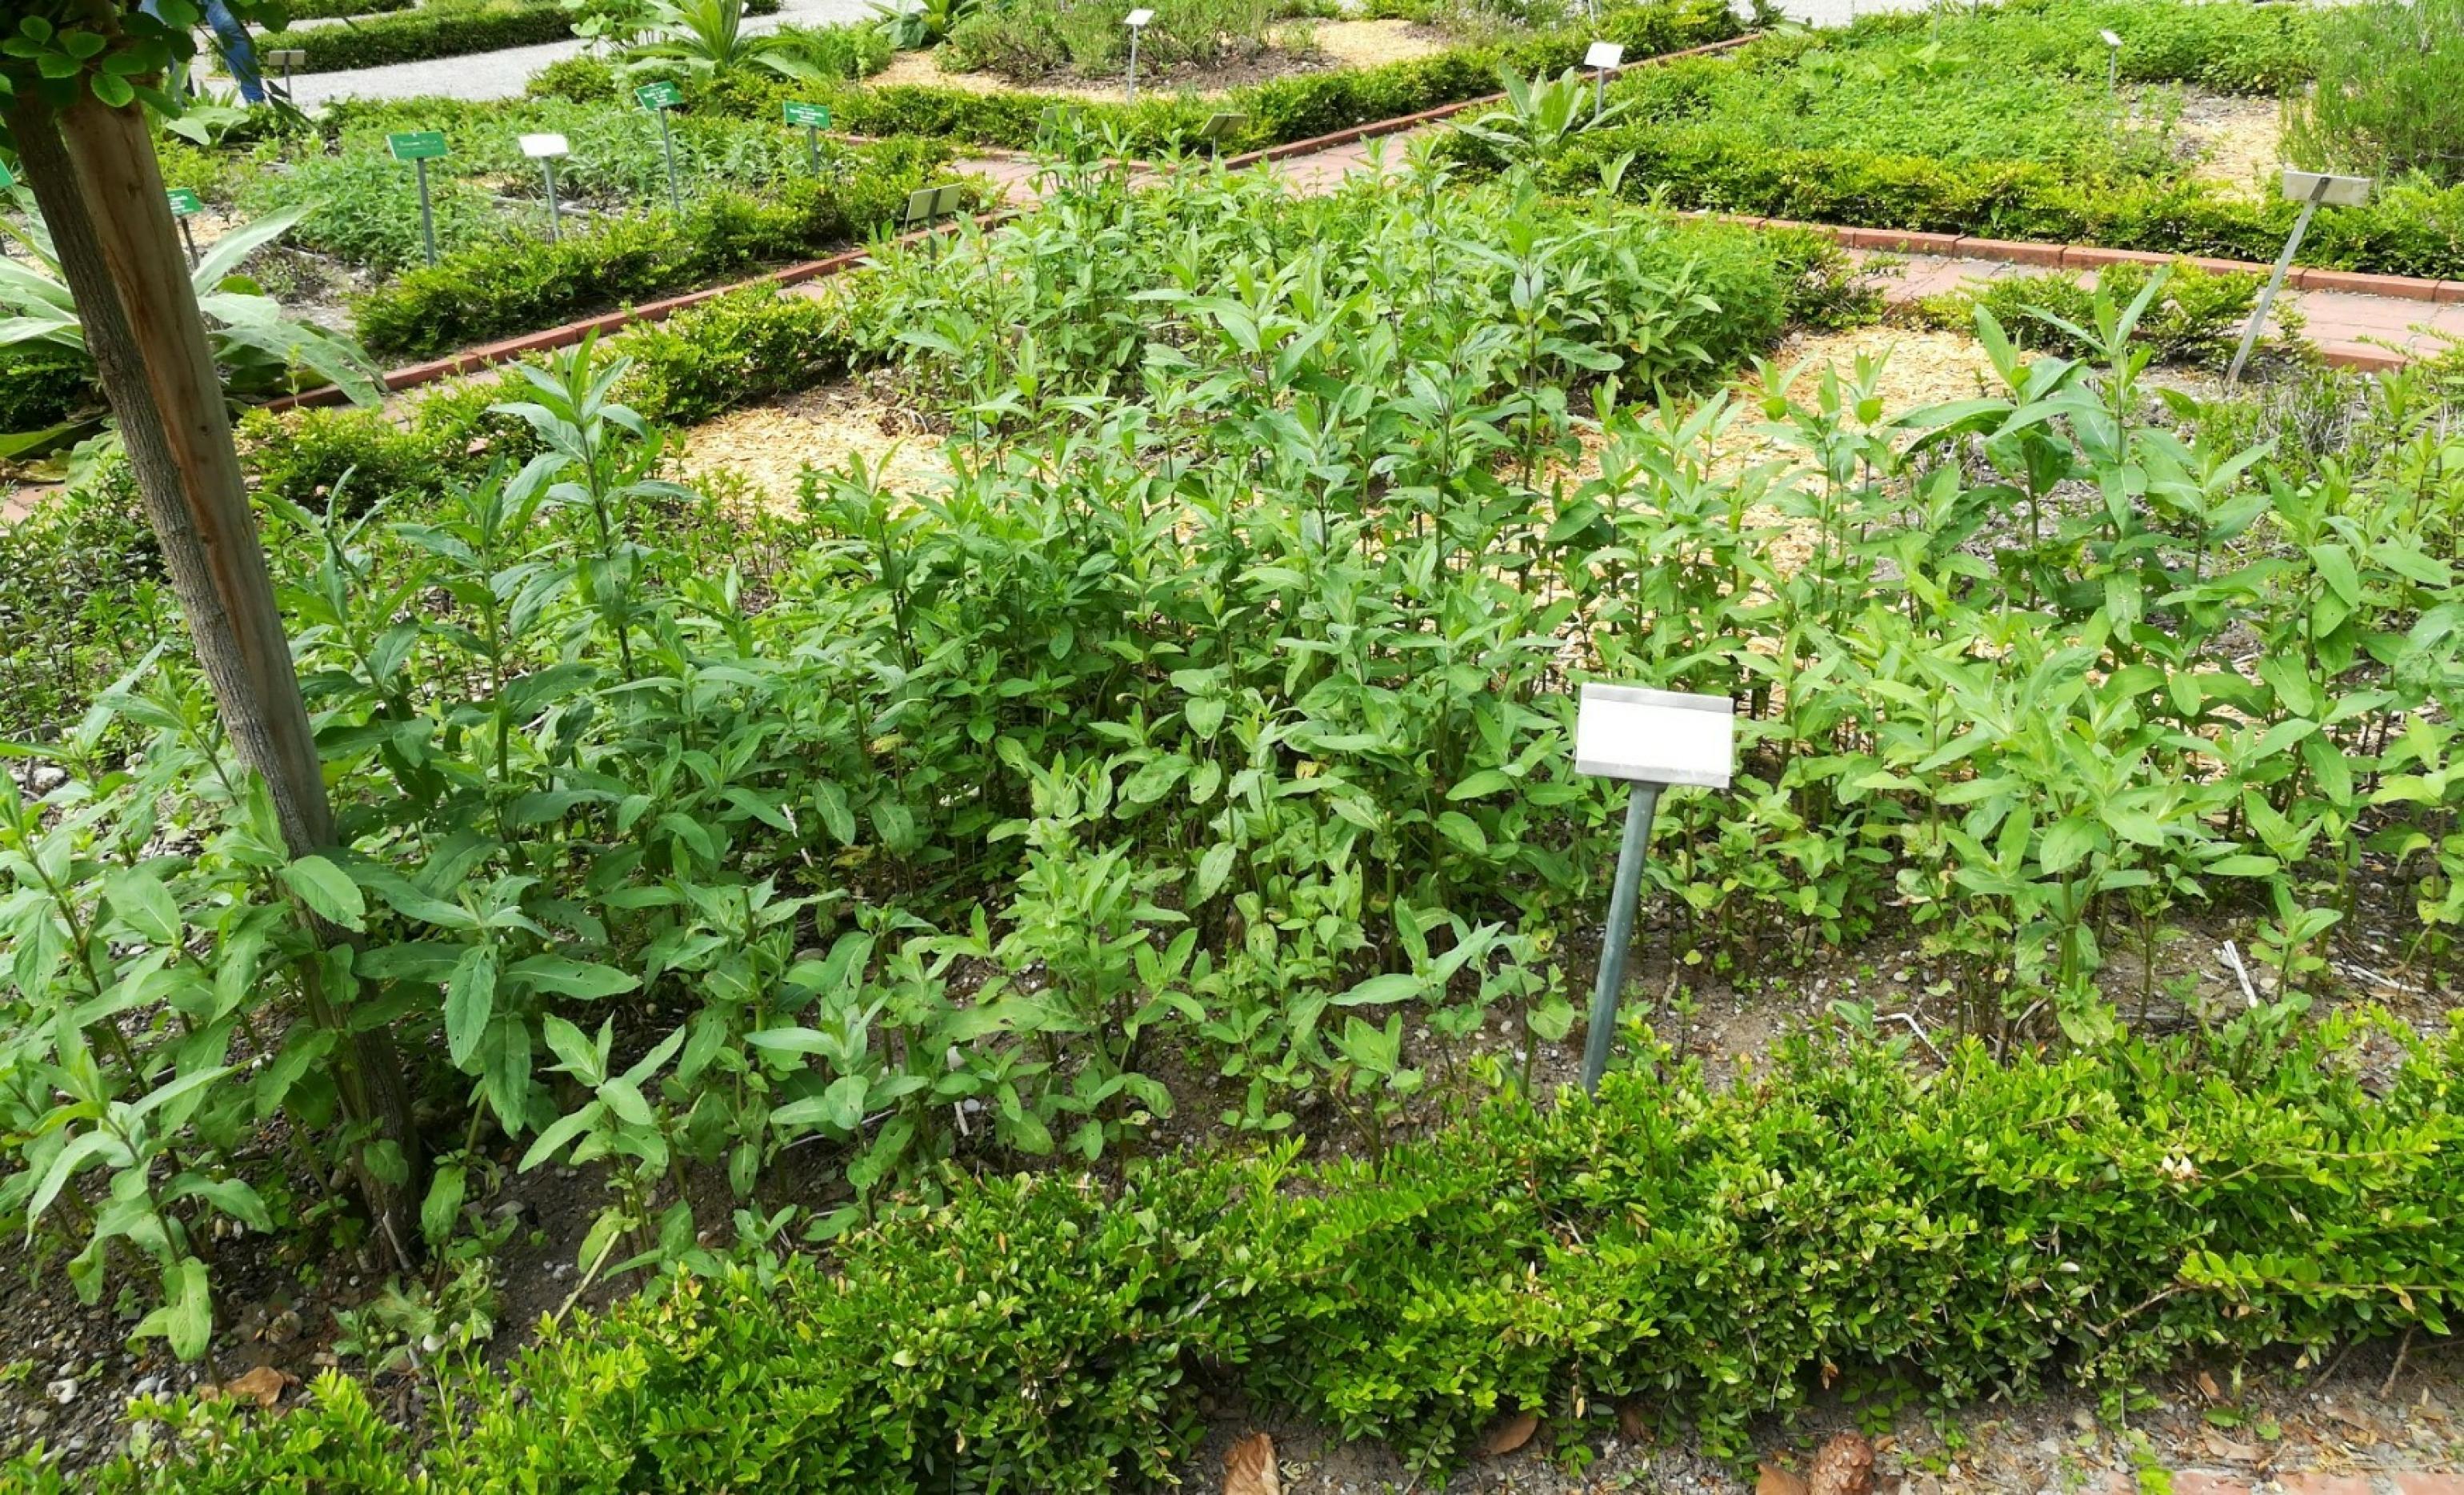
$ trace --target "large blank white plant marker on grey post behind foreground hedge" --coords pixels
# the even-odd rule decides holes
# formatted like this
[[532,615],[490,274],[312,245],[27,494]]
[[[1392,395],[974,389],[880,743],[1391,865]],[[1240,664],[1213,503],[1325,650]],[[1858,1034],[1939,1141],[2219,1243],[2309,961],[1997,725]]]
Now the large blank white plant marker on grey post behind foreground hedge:
[[1626,780],[1626,836],[1616,844],[1609,933],[1592,987],[1592,1031],[1582,1046],[1582,1090],[1599,1093],[1616,1036],[1616,994],[1626,987],[1626,945],[1651,849],[1651,814],[1668,785],[1725,789],[1737,767],[1737,706],[1727,696],[1688,696],[1641,686],[1584,686],[1574,710],[1574,772]]

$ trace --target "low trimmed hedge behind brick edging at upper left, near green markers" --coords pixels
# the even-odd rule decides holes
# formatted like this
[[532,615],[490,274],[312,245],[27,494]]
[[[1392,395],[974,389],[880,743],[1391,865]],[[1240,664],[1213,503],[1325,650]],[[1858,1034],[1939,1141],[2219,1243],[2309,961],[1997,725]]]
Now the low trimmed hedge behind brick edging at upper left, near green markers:
[[683,217],[621,217],[557,242],[476,244],[360,296],[357,333],[370,353],[429,358],[813,257],[894,222],[946,163],[939,141],[882,141],[835,183],[781,183],[761,200],[712,192]]

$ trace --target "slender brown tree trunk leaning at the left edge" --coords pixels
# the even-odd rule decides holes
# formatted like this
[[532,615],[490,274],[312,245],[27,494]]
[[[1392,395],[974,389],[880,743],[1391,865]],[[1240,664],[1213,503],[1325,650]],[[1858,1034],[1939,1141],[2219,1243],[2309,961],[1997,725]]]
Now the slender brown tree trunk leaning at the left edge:
[[[54,111],[20,91],[7,123],[232,748],[266,780],[291,854],[325,851],[333,802],[145,116],[91,94]],[[416,1241],[409,1182],[389,1184],[365,1159],[367,1142],[392,1142],[416,1179],[392,1034],[352,1034],[315,972],[308,994],[310,1021],[340,1041],[342,1113],[367,1132],[352,1152],[360,1187],[377,1231],[407,1261]]]

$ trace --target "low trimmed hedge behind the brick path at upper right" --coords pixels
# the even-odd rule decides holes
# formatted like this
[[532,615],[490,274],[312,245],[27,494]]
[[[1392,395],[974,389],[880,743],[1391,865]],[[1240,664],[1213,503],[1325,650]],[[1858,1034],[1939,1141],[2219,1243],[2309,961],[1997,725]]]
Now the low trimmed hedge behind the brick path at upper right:
[[[1592,187],[1634,155],[1624,190],[1799,222],[1929,229],[1998,239],[2102,244],[2158,254],[2269,262],[2299,212],[2284,200],[2232,197],[2213,183],[2065,180],[2033,160],[1951,163],[1868,150],[1769,150],[1700,126],[1609,126],[1555,165],[1560,187]],[[2430,279],[2464,276],[2464,187],[2390,185],[2368,207],[2326,207],[2301,239],[2301,264]]]

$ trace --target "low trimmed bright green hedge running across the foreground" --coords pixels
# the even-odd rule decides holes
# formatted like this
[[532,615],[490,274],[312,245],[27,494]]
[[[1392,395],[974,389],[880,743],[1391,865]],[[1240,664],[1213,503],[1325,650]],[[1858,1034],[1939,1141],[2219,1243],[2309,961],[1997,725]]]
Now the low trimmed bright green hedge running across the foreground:
[[1730,1088],[1498,1100],[1382,1164],[1170,1159],[946,1204],[549,1330],[411,1438],[365,1391],[148,1409],[103,1490],[1116,1490],[1207,1382],[1446,1468],[1510,1409],[1619,1404],[1722,1458],[1833,1379],[2114,1399],[2188,1352],[2447,1335],[2464,1031],[2363,1073],[2361,1021],[2122,1039],[1939,1073],[1786,1044]]

